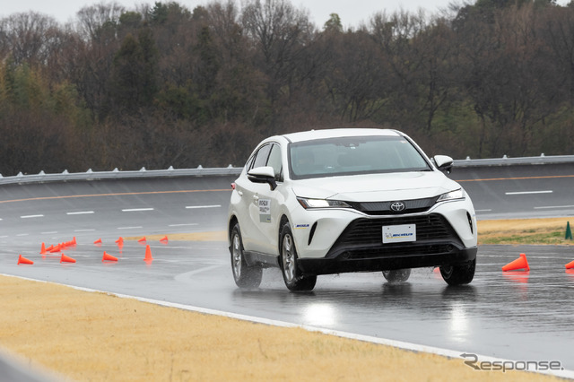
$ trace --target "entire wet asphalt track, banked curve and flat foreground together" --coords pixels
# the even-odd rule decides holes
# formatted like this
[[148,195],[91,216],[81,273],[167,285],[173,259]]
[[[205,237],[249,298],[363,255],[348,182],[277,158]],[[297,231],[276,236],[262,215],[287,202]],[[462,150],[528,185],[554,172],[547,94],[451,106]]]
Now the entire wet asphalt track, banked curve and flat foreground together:
[[[527,166],[500,173],[506,170],[453,174],[472,180],[462,184],[473,197],[479,219],[574,215],[565,207],[574,204],[572,166]],[[514,179],[474,180],[504,177]],[[119,236],[224,230],[232,180],[2,187],[0,272],[461,353],[558,360],[574,369],[574,274],[564,270],[574,259],[574,247],[480,247],[474,282],[464,288],[447,287],[438,273],[423,268],[413,270],[402,285],[389,285],[379,273],[321,276],[316,290],[307,294],[287,291],[276,270],[265,271],[256,291],[237,289],[224,242],[150,241],[151,264],[143,261],[144,247],[135,241],[126,241],[119,252],[114,243]],[[507,194],[517,192],[528,194]],[[552,206],[561,208],[535,209]],[[60,264],[59,255],[39,256],[42,242],[55,244],[74,236],[78,246],[65,253],[76,264]],[[103,245],[92,244],[95,239]],[[117,264],[102,264],[103,250],[118,256]],[[521,252],[528,257],[530,273],[502,273],[500,267]],[[19,254],[35,264],[16,265]]]

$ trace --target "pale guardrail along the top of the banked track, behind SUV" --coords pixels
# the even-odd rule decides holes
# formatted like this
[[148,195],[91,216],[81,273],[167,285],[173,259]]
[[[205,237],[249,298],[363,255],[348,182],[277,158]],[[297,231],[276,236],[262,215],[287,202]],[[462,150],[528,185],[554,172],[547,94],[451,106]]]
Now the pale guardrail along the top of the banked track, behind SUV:
[[[506,155],[499,159],[478,159],[456,160],[455,168],[461,167],[488,167],[488,166],[517,166],[517,165],[535,165],[535,164],[556,164],[556,163],[574,163],[574,155],[557,155],[539,157],[522,157],[508,158]],[[3,177],[0,174],[0,185],[7,184],[24,184],[24,183],[41,183],[70,180],[100,180],[100,179],[126,179],[126,178],[178,178],[178,177],[206,177],[206,176],[225,176],[239,175],[242,167],[233,167],[229,165],[226,168],[207,168],[201,165],[196,169],[139,169],[139,170],[119,170],[112,171],[92,171],[70,173],[65,169],[59,174],[46,174],[40,171],[39,174],[22,174],[13,177]]]

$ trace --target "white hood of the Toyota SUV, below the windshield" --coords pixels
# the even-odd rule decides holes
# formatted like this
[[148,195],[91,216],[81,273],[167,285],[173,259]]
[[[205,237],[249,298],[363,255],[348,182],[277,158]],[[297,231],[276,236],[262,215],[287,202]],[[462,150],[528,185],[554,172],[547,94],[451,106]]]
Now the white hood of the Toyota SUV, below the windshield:
[[439,171],[398,172],[292,182],[295,195],[347,202],[412,200],[437,196],[460,186]]

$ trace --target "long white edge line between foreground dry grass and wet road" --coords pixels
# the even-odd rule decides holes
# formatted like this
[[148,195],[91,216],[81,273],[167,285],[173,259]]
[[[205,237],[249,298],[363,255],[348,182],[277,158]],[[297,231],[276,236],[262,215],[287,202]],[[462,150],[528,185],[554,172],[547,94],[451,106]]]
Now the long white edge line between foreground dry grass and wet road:
[[[63,285],[63,286],[66,286],[68,288],[73,288],[76,291],[88,291],[91,293],[106,293],[109,296],[115,296],[115,297],[118,297],[120,299],[137,300],[137,301],[147,302],[150,304],[160,305],[162,307],[178,308],[178,309],[188,310],[188,311],[192,311],[192,312],[203,313],[206,315],[229,317],[229,318],[239,319],[241,321],[254,322],[257,324],[264,324],[264,325],[278,326],[278,327],[300,327],[300,328],[305,329],[309,332],[317,332],[317,333],[322,333],[322,334],[327,334],[327,335],[335,335],[336,337],[348,338],[351,340],[363,341],[363,342],[367,342],[367,343],[378,343],[380,345],[393,346],[396,348],[400,348],[400,349],[404,349],[404,350],[412,351],[412,352],[428,352],[428,353],[437,354],[437,355],[440,355],[443,357],[455,358],[457,360],[467,360],[466,358],[464,358],[462,356],[463,352],[450,350],[450,349],[444,349],[444,348],[437,348],[434,346],[421,345],[418,343],[406,343],[403,341],[396,341],[396,340],[389,340],[386,338],[372,337],[370,335],[353,334],[353,333],[342,332],[342,331],[338,331],[338,330],[331,330],[331,329],[327,329],[327,328],[319,327],[319,326],[306,326],[306,325],[292,324],[292,323],[285,322],[285,321],[278,321],[278,320],[273,320],[273,319],[263,318],[263,317],[239,315],[237,313],[230,313],[230,312],[225,312],[222,310],[195,307],[193,305],[178,304],[175,302],[146,299],[143,297],[130,296],[128,294],[114,293],[111,291],[100,291],[100,290],[94,290],[94,289],[89,289],[89,288],[77,287],[74,285],[66,285],[66,284],[59,283],[59,282],[47,282],[44,280],[31,279],[28,277],[14,276],[13,274],[0,273],[0,276],[14,277],[17,279],[30,280],[33,282],[46,282],[46,283],[55,284],[55,285]],[[475,353],[473,353],[473,354],[476,355],[476,357],[478,358],[478,360],[477,360],[478,363],[481,363],[484,361],[486,361],[486,362],[496,361],[499,363],[504,362],[504,361],[510,361],[510,360],[505,360],[505,359],[501,359],[501,358],[494,358],[494,357],[490,357],[490,356],[485,356],[482,354],[475,354]],[[541,373],[541,374],[549,374],[549,375],[562,377],[562,378],[574,378],[574,370],[569,370],[569,369],[562,369],[562,370],[540,370],[540,369],[537,369],[536,370],[536,369],[532,369],[532,367],[527,363],[526,363],[526,369],[527,369],[526,371],[533,371],[533,372],[537,372],[537,373]]]

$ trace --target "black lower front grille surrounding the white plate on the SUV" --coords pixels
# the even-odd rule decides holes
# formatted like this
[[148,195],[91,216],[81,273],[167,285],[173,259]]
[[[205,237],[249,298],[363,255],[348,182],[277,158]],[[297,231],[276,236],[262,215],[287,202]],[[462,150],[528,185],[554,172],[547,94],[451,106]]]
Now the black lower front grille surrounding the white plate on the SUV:
[[[416,224],[416,241],[383,244],[383,226]],[[409,256],[438,254],[464,247],[457,232],[438,213],[421,216],[366,219],[352,221],[343,231],[328,256],[344,254],[346,258]]]

